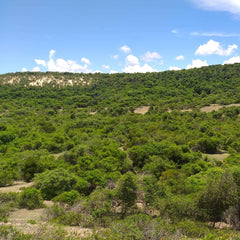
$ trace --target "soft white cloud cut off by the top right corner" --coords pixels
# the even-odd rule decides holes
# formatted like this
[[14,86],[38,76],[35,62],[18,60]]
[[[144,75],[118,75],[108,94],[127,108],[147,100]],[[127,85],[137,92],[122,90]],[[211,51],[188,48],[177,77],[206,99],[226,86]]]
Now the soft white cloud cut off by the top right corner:
[[226,11],[233,14],[240,13],[239,0],[191,0],[198,7],[211,11]]

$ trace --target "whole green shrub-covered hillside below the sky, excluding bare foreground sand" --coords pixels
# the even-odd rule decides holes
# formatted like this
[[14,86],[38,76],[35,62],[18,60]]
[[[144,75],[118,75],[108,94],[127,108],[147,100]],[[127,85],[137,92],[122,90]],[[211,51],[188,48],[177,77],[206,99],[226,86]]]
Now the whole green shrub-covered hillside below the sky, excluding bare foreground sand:
[[240,64],[8,73],[0,102],[0,186],[33,182],[0,192],[1,221],[51,200],[92,239],[240,237]]

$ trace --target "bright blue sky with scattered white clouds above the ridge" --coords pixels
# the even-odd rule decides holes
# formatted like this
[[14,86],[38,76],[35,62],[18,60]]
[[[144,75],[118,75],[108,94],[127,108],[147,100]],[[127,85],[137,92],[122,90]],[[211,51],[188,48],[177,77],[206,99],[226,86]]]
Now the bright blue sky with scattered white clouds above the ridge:
[[2,0],[0,74],[240,62],[240,0]]

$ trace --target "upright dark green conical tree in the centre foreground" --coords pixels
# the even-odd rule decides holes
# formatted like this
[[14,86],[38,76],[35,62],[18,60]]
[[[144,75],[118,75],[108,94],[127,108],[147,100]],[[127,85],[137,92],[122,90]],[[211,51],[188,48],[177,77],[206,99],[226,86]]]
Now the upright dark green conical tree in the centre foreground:
[[122,205],[122,217],[124,217],[137,199],[137,180],[132,172],[122,176],[117,187],[117,198]]

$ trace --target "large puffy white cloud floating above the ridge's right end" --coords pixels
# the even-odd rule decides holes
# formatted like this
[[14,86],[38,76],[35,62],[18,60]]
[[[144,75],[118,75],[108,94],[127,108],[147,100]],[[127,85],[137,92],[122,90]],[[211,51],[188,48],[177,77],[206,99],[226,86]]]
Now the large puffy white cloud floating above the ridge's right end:
[[219,42],[214,40],[209,40],[207,43],[200,45],[195,55],[219,55],[219,56],[229,56],[233,53],[238,46],[236,44],[228,45],[227,49],[223,49]]

